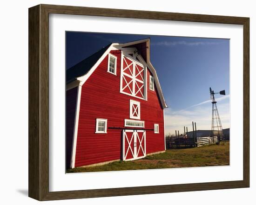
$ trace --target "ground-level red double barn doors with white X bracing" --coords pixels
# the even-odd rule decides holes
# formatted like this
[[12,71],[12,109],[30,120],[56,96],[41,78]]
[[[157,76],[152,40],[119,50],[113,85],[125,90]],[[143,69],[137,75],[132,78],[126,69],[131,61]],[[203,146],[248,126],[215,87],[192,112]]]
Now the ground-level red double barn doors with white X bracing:
[[122,160],[136,160],[146,156],[146,131],[123,130]]

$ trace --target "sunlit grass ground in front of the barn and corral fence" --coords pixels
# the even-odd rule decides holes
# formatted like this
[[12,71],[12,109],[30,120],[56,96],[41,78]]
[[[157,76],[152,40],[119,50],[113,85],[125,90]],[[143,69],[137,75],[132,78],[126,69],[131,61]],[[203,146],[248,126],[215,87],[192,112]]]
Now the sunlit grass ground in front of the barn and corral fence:
[[140,160],[115,161],[95,167],[76,167],[68,169],[67,173],[224,165],[229,165],[229,142],[195,148],[168,149],[165,153],[150,155]]

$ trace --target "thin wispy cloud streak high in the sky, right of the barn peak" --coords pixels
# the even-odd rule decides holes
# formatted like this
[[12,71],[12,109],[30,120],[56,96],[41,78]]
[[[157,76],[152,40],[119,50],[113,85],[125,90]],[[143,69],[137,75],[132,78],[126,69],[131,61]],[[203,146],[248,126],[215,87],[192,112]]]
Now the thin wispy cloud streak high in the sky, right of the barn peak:
[[218,42],[203,42],[203,41],[195,41],[195,42],[187,42],[187,41],[160,41],[156,43],[151,43],[151,45],[163,45],[163,46],[175,46],[175,45],[187,45],[187,46],[198,46],[198,45],[218,45]]

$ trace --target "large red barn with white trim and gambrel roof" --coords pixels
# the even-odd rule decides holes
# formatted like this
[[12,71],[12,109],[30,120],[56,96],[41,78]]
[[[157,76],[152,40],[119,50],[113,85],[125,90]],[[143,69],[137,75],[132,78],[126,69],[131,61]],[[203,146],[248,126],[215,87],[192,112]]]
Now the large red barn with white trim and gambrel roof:
[[167,105],[149,51],[149,38],[112,43],[67,70],[67,168],[165,151]]

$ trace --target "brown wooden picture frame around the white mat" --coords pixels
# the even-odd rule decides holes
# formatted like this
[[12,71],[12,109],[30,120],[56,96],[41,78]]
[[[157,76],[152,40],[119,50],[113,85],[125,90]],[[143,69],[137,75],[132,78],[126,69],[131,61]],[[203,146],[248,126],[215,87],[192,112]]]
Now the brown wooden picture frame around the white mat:
[[[160,186],[49,191],[49,14],[243,25],[243,180]],[[29,8],[29,189],[40,201],[188,192],[249,187],[249,18],[166,13],[80,6],[37,5]]]

